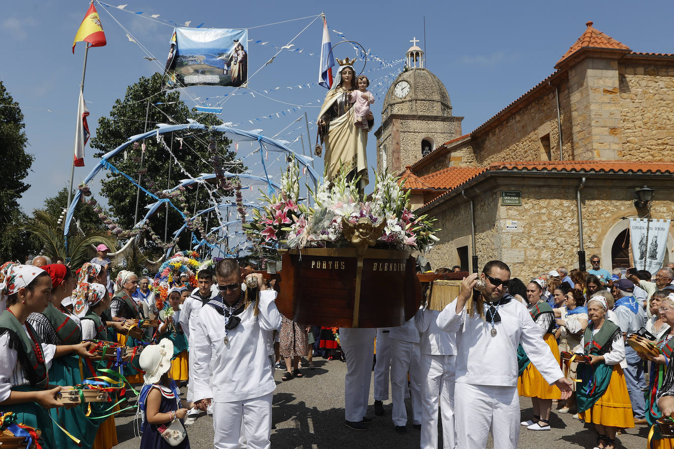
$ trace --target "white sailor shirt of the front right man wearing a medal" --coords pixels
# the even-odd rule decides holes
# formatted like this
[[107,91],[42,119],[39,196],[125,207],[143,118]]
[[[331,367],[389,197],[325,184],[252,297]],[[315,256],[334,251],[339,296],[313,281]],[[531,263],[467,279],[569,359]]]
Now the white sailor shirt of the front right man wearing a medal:
[[477,314],[469,316],[466,308],[456,313],[452,302],[437,316],[442,331],[456,333],[456,382],[473,385],[517,386],[517,348],[520,343],[526,355],[552,384],[563,373],[550,347],[541,337],[524,304],[511,300],[498,308],[501,322],[495,323],[497,334],[491,337],[491,323]]

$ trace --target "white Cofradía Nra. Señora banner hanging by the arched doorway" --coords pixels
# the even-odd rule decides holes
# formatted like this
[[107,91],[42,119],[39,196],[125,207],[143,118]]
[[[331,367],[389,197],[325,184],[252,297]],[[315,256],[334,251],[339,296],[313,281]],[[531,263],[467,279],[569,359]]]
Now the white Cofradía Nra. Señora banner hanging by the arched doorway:
[[669,220],[630,218],[630,235],[634,267],[655,274],[665,260]]

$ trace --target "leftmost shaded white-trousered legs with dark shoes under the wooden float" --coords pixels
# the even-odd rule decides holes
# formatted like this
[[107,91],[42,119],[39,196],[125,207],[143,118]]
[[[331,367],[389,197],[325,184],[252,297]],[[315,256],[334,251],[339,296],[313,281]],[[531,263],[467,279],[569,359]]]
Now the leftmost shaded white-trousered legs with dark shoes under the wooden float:
[[339,328],[340,346],[346,357],[344,417],[346,427],[367,430],[372,422],[367,413],[375,351],[374,328]]

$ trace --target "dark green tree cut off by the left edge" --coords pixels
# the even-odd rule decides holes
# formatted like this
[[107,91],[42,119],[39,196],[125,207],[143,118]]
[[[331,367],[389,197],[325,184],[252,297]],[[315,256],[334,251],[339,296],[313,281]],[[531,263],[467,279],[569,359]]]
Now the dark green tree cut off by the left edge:
[[30,184],[24,182],[33,163],[33,156],[26,153],[28,139],[24,128],[24,114],[0,81],[0,149],[3,166],[0,176],[0,258],[24,261],[32,252],[29,242],[20,241],[26,235],[16,235],[12,226],[26,219],[19,207],[21,195]]

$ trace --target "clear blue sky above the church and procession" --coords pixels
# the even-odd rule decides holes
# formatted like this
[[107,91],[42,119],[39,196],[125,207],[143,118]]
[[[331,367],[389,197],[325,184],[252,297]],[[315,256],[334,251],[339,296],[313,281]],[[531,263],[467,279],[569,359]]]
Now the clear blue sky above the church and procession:
[[[120,0],[118,0],[120,1]],[[249,75],[262,67],[281,47],[301,32],[313,18],[257,27],[272,22],[303,18],[324,11],[331,29],[346,38],[361,42],[366,49],[388,61],[402,59],[409,40],[416,36],[427,49],[427,67],[445,83],[454,115],[465,116],[464,133],[481,125],[489,117],[524,94],[554,71],[553,66],[584,32],[585,22],[627,44],[634,51],[674,53],[671,18],[674,2],[568,1],[553,2],[452,2],[452,1],[249,1],[239,3],[166,0],[151,2],[124,0],[127,11],[143,11],[146,17],[159,14],[158,20],[173,20],[191,26],[204,23],[208,28],[250,28],[249,39],[268,42],[249,43]],[[75,55],[71,42],[88,8],[88,1],[26,0],[3,5],[0,18],[0,79],[20,103],[26,118],[28,151],[36,156],[28,182],[30,190],[20,203],[24,211],[40,207],[45,197],[66,185],[72,160],[73,134],[78,88],[82,75],[84,44]],[[118,3],[115,3],[117,5]],[[107,46],[91,48],[87,65],[84,96],[90,110],[89,125],[95,133],[98,117],[111,110],[127,85],[141,76],[150,76],[163,65],[168,53],[171,26],[152,22],[120,9],[96,5]],[[111,18],[107,11],[114,16]],[[426,19],[426,42],[423,42],[423,19]],[[124,30],[115,20],[126,28]],[[253,28],[257,27],[257,28]],[[241,129],[263,129],[273,136],[285,127],[279,138],[295,140],[306,130],[303,112],[315,120],[317,107],[326,94],[324,88],[288,87],[315,83],[321,44],[321,22],[316,20],[295,40],[302,53],[282,51],[273,63],[263,67],[250,79],[251,90],[274,90],[265,98],[255,94],[232,96],[220,114],[223,122],[241,122]],[[146,53],[126,34],[144,46],[158,61],[143,59]],[[333,44],[340,40],[330,33]],[[338,51],[339,50],[339,51]],[[336,50],[336,57],[353,55],[346,45]],[[343,53],[342,53],[343,52]],[[309,53],[315,55],[309,56]],[[159,63],[159,65],[157,65]],[[356,64],[359,67],[359,63]],[[379,67],[368,63],[367,69]],[[402,66],[387,67],[367,73],[371,80],[385,83],[373,105],[375,127],[386,88]],[[378,81],[377,81],[378,82]],[[375,94],[377,94],[377,90]],[[233,92],[233,88],[189,88],[183,99],[189,106],[202,104]],[[238,93],[242,91],[239,90]],[[200,98],[196,102],[193,98]],[[220,100],[220,99],[218,99]],[[218,100],[211,100],[216,102]],[[276,112],[293,106],[307,105],[295,113]],[[262,119],[272,114],[272,119]],[[300,118],[299,123],[292,124]],[[142,120],[143,117],[139,117]],[[261,118],[261,120],[256,120]],[[251,125],[247,120],[253,120]],[[312,140],[315,128],[311,129]],[[375,164],[375,137],[369,143],[369,164]],[[301,152],[299,141],[292,148]],[[94,166],[93,151],[86,148],[86,166],[75,168],[78,184]],[[272,156],[270,156],[272,161]],[[281,162],[275,162],[276,172]],[[249,164],[250,165],[250,164]],[[317,170],[322,162],[316,161]],[[5,167],[5,170],[11,167]],[[253,170],[260,170],[258,165]],[[372,178],[372,176],[371,176]],[[129,187],[131,188],[131,186]],[[92,190],[98,190],[93,182]],[[255,193],[251,193],[255,197]],[[251,197],[251,199],[252,199]],[[147,202],[146,202],[147,203]]]

